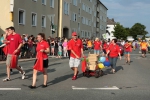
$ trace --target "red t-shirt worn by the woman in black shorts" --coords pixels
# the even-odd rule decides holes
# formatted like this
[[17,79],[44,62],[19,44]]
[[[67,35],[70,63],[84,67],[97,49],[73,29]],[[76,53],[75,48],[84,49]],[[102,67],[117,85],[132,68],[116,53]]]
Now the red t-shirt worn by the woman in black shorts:
[[[36,51],[37,51],[37,56],[36,58],[38,58],[38,52],[40,52],[40,50],[46,50],[47,48],[49,48],[49,44],[46,41],[41,41],[37,43],[37,47],[36,47]],[[47,53],[43,52],[43,59],[47,59],[48,55]]]

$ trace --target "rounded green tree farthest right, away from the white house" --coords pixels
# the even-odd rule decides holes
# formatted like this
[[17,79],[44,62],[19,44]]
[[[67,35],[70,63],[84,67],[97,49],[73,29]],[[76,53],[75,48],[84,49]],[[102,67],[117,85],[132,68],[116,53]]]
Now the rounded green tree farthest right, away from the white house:
[[146,34],[148,34],[145,29],[146,27],[141,23],[135,23],[130,29],[130,35],[133,36],[134,39],[136,39],[137,35],[143,35],[143,38],[145,38]]

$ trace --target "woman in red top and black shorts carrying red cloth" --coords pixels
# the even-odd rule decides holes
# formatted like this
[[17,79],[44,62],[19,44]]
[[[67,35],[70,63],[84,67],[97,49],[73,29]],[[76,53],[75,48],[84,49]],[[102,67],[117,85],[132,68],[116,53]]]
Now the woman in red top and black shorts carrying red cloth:
[[[40,58],[38,55],[40,53],[42,53],[42,59],[43,59],[42,67],[44,68],[44,70],[43,70],[44,84],[42,87],[44,88],[44,87],[47,87],[47,79],[48,79],[48,75],[47,75],[48,55],[47,54],[50,52],[50,50],[49,50],[49,44],[46,41],[44,33],[39,33],[37,35],[37,40],[38,40],[37,47],[36,47],[37,56],[36,56],[35,64],[38,61],[38,59]],[[29,88],[31,88],[31,89],[36,88],[37,72],[38,72],[38,70],[33,69],[33,82],[32,82],[32,85],[29,86]]]

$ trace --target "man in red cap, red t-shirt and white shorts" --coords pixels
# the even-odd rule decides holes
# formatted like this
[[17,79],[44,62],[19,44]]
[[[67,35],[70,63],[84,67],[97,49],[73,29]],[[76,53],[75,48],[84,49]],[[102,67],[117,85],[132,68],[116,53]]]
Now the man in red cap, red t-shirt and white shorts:
[[78,67],[80,65],[80,58],[83,56],[83,44],[80,39],[77,38],[77,33],[72,33],[72,39],[69,41],[69,46],[71,50],[69,65],[70,68],[74,71],[74,76],[72,80],[76,80],[79,73]]

